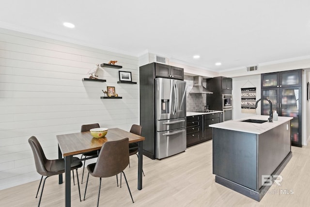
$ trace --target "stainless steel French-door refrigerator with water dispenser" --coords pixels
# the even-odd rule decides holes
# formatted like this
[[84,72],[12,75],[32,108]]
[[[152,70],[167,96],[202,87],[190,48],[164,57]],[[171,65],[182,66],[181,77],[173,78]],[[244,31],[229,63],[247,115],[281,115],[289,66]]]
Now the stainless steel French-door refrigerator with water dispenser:
[[155,79],[156,149],[162,159],[186,150],[186,82]]

